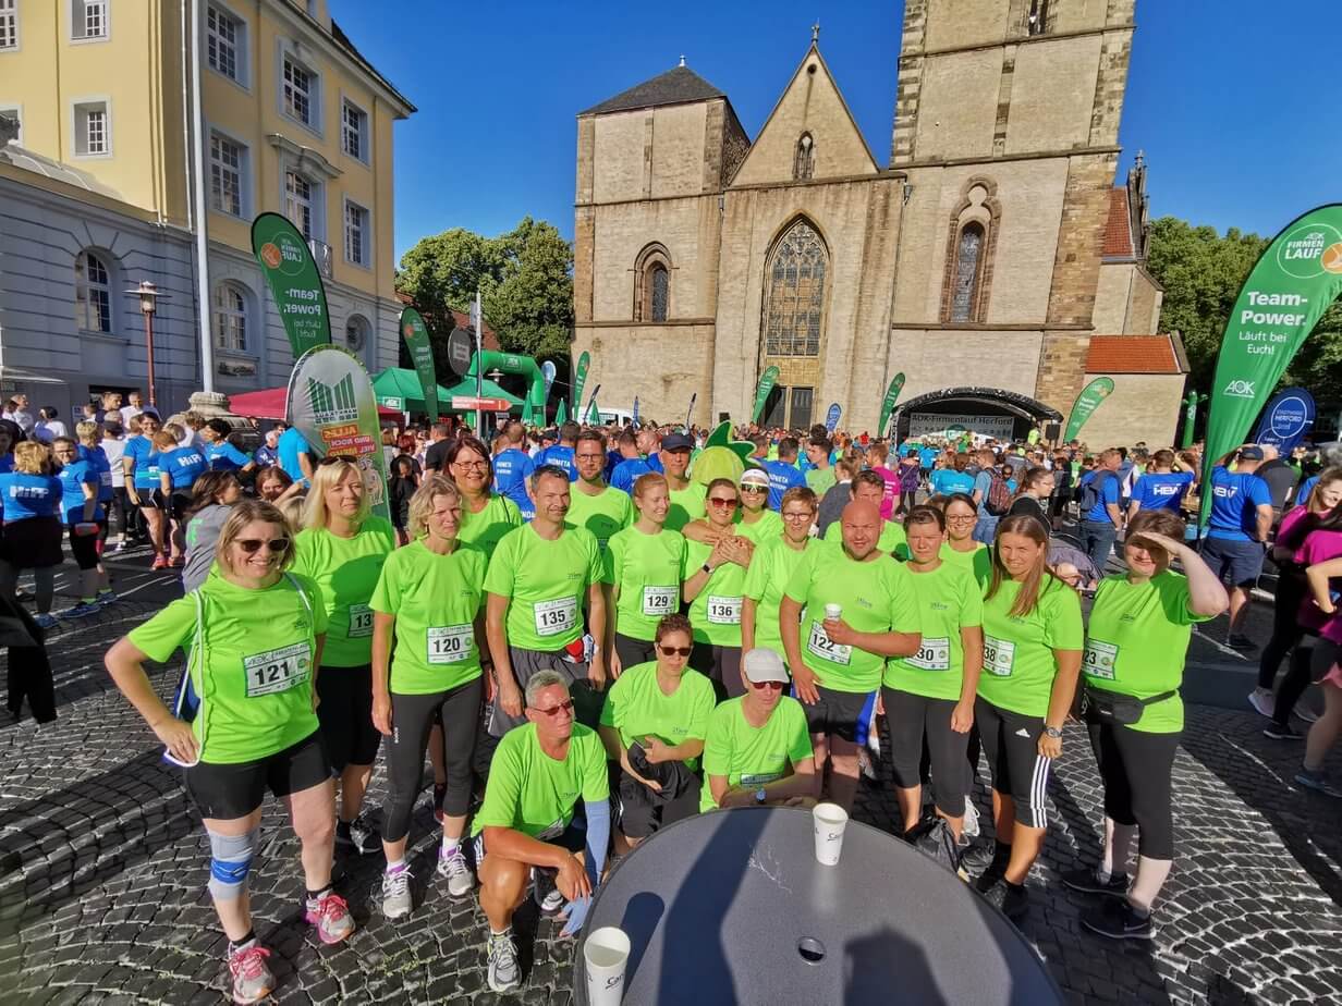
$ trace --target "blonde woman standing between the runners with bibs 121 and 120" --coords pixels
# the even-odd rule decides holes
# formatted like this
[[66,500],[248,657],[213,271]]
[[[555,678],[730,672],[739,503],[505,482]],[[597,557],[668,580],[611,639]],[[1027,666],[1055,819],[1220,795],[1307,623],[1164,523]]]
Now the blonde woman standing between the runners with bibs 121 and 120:
[[336,845],[361,856],[380,846],[360,818],[382,735],[373,726],[373,612],[382,563],[396,549],[392,522],[369,512],[358,465],[325,457],[313,472],[294,569],[317,582],[330,630],[317,676],[322,740],[340,777]]

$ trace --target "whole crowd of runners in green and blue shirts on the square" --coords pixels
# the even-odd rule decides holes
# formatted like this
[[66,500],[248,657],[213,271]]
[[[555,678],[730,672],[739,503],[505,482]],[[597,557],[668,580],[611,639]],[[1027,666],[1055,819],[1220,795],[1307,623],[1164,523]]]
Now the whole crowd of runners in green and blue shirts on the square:
[[[436,424],[388,433],[384,519],[360,469],[295,429],[248,453],[223,420],[105,405],[50,444],[7,412],[0,590],[34,570],[50,625],[68,537],[81,601],[59,614],[113,602],[101,555],[118,511],[113,547],[142,534],[154,567],[181,567],[184,596],[106,664],[204,818],[236,1002],[274,987],[247,893],[266,791],[302,845],[306,919],[340,943],[354,920],[337,852],[385,857],[381,912],[415,911],[425,755],[433,869],[448,897],[478,889],[495,991],[521,982],[511,917],[529,892],[576,932],[612,857],[659,829],[718,807],[851,807],[876,758],[900,836],[949,842],[1019,919],[1068,718],[1088,731],[1104,837],[1062,879],[1095,895],[1090,931],[1150,939],[1192,626],[1229,609],[1228,644],[1253,647],[1243,620],[1274,534],[1276,622],[1251,702],[1270,736],[1299,738],[1291,711],[1323,684],[1298,778],[1342,795],[1322,771],[1342,727],[1342,468],[1325,459],[1244,445],[1204,487],[1196,452],[1045,449],[1037,431],[894,445],[752,427],[737,475],[695,479],[695,429],[513,423],[486,444]],[[145,663],[178,651],[165,703]],[[981,759],[993,841],[966,826]]]

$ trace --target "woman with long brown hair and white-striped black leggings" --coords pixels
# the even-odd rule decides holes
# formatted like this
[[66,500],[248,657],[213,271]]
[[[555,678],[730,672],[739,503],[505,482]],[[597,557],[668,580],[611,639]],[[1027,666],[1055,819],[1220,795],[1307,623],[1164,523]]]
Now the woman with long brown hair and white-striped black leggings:
[[1048,770],[1063,752],[1082,665],[1080,598],[1047,562],[1048,531],[1039,520],[998,522],[974,703],[993,779],[997,845],[977,888],[1009,917],[1027,908],[1025,876],[1048,826]]

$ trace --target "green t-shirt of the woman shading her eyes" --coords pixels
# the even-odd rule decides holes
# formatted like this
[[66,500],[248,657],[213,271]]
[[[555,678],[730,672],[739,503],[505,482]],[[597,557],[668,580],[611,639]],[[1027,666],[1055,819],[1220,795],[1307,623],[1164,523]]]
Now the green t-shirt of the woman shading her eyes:
[[1193,622],[1210,616],[1189,610],[1188,579],[1172,570],[1145,583],[1127,577],[1104,577],[1095,592],[1082,673],[1091,688],[1147,699],[1161,692],[1174,695],[1147,706],[1131,730],[1174,734],[1184,728],[1184,681]]

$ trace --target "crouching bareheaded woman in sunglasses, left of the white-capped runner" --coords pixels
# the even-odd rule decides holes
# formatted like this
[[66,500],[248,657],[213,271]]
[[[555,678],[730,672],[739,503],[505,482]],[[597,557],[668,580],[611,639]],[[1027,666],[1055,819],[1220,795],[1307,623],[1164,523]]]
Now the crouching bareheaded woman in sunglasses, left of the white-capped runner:
[[717,696],[713,683],[688,668],[692,649],[690,620],[666,616],[656,628],[656,661],[627,668],[605,696],[599,731],[620,766],[620,854],[698,810],[699,755]]

